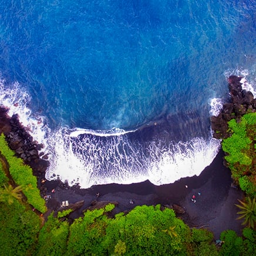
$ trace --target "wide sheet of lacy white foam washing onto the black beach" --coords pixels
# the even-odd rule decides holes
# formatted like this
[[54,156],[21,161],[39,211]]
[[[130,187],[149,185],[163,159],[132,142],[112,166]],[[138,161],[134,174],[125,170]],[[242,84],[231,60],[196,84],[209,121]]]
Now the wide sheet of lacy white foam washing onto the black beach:
[[164,146],[152,141],[147,147],[132,143],[126,134],[72,138],[62,129],[51,136],[54,149],[48,180],[59,177],[70,185],[88,188],[94,184],[130,184],[144,180],[160,185],[181,177],[199,175],[220,149],[220,140],[194,138]]

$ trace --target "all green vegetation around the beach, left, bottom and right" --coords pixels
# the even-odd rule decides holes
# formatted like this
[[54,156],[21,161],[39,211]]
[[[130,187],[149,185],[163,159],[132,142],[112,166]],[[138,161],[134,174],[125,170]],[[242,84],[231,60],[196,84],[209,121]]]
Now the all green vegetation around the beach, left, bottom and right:
[[[234,177],[240,186],[244,184],[244,190],[250,191],[250,195],[255,192],[251,181],[255,170],[250,169],[255,161],[251,153],[251,150],[255,151],[254,118],[255,115],[241,119],[240,123],[231,122],[230,129],[237,136],[229,143],[240,144],[239,149],[226,141],[226,149],[230,150],[227,160],[234,167]],[[242,140],[242,136],[247,136],[248,140]],[[238,170],[235,169],[237,166]],[[241,210],[238,214],[248,227],[242,231],[242,237],[232,230],[221,233],[220,239],[224,242],[221,247],[215,245],[213,233],[206,229],[190,229],[173,210],[162,209],[160,205],[137,206],[127,214],[119,213],[110,218],[114,205],[108,204],[102,209],[86,211],[72,224],[63,221],[66,220],[63,217],[72,212],[68,209],[59,212],[57,218],[51,213],[43,224],[42,218],[28,205],[46,211],[36,178],[31,168],[14,156],[3,135],[0,136],[0,202],[1,255],[245,256],[254,255],[256,250],[255,198],[251,200],[251,197],[237,204]]]

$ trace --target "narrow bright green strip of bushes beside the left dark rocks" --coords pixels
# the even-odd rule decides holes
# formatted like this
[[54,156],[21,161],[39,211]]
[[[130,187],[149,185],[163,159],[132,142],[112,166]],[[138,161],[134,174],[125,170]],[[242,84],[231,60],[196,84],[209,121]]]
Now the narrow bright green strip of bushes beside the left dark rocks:
[[[0,153],[2,158],[6,159],[9,164],[9,174],[11,174],[14,182],[19,186],[22,186],[23,194],[28,198],[28,203],[35,207],[41,213],[46,212],[45,200],[40,196],[40,191],[37,187],[36,177],[33,176],[31,167],[25,165],[22,159],[15,157],[14,151],[9,149],[8,144],[5,141],[4,134],[0,136]],[[4,170],[3,160],[2,169]],[[3,174],[0,178],[3,177]]]

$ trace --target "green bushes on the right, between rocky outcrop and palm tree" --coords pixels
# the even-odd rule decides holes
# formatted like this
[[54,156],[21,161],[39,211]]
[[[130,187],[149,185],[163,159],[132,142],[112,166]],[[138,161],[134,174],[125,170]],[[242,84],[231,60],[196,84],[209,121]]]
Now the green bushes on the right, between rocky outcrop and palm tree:
[[240,122],[231,119],[228,127],[231,137],[223,140],[222,147],[234,180],[248,196],[256,196],[256,113],[244,114]]

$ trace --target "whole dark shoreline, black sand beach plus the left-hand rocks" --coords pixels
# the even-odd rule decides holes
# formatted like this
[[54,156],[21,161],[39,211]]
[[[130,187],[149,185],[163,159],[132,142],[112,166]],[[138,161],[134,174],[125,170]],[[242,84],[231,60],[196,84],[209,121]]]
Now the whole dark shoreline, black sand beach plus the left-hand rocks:
[[[46,201],[48,213],[45,214],[45,217],[52,210],[65,209],[65,207],[60,207],[62,201],[68,201],[69,204],[84,201],[82,207],[69,215],[70,221],[81,216],[83,210],[92,207],[97,202],[115,202],[117,206],[112,214],[121,211],[127,212],[143,204],[148,206],[161,204],[161,206],[170,208],[176,204],[181,207],[182,211],[185,210],[183,214],[176,211],[177,217],[184,220],[190,227],[208,228],[214,233],[216,240],[219,239],[220,233],[227,229],[235,230],[238,235],[241,235],[242,221],[235,220],[238,209],[234,204],[237,203],[237,198],[242,199],[244,193],[231,186],[231,173],[223,164],[224,153],[222,150],[218,152],[213,162],[202,171],[200,176],[181,178],[172,184],[155,186],[147,180],[133,184],[95,185],[87,189],[79,186],[69,187],[68,184],[62,183],[60,180],[45,180],[45,170],[49,162],[47,159],[39,157],[38,147],[41,145],[33,142],[33,138],[19,123],[17,115],[9,117],[7,109],[1,107],[0,110],[0,132],[5,133],[9,144],[11,142],[12,146],[15,146],[10,138],[10,134],[15,130],[15,134],[21,136],[19,142],[23,140],[27,142],[23,143],[24,145],[30,145],[28,149],[24,149],[25,154],[31,152],[31,149],[37,151],[37,154],[34,151],[24,160],[32,167],[33,174],[38,178],[41,196],[50,196]],[[17,151],[16,154],[19,155]],[[55,193],[52,193],[53,188]],[[97,193],[99,196],[96,196]],[[196,197],[194,198],[196,203],[191,200],[193,196]],[[132,200],[132,204],[130,200]]]

